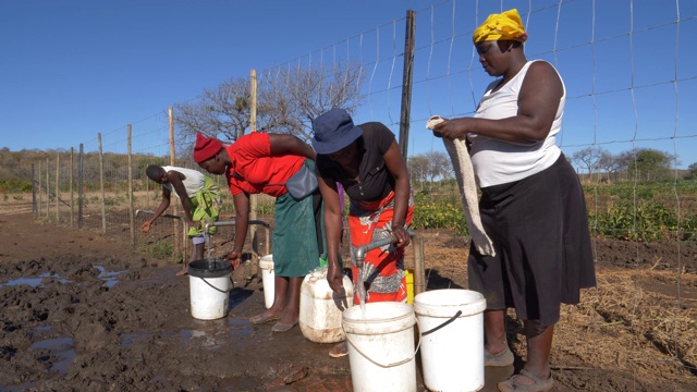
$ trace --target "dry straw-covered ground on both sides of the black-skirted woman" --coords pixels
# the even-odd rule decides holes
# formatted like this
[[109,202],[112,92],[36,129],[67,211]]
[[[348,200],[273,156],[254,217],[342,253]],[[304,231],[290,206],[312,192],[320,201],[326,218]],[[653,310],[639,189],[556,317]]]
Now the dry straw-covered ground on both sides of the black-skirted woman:
[[[467,249],[449,233],[423,233],[427,280],[467,287]],[[407,267],[411,260],[407,259]],[[694,383],[697,375],[697,275],[655,268],[599,268],[598,286],[580,304],[562,306],[551,363],[555,369],[602,369],[645,380]],[[680,303],[676,287],[682,287]],[[510,310],[509,338],[526,357],[522,326]]]

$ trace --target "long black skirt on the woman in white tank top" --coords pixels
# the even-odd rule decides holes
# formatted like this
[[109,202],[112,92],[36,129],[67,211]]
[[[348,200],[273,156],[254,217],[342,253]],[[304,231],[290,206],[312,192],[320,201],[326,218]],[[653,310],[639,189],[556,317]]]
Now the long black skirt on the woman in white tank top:
[[482,188],[481,222],[494,257],[470,246],[469,289],[487,309],[515,308],[522,320],[549,326],[560,304],[578,304],[596,285],[586,203],[578,176],[562,154],[527,179]]

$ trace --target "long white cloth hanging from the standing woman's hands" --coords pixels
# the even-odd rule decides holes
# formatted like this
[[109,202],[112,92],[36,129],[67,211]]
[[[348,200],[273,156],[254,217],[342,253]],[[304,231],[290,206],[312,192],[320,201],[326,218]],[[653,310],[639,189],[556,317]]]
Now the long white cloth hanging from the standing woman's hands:
[[[443,119],[440,117],[433,115],[426,123],[426,127],[432,130],[435,125],[442,121]],[[469,160],[469,154],[467,152],[467,146],[465,145],[464,137],[462,139],[456,138],[454,140],[447,137],[443,137],[442,139],[445,145],[445,150],[450,156],[450,160],[453,162],[453,168],[455,169],[457,188],[462,198],[463,209],[465,210],[465,220],[467,221],[467,229],[469,229],[472,242],[475,244],[479,254],[496,256],[497,253],[493,249],[491,238],[489,238],[481,225],[475,172],[472,168],[472,161]]]

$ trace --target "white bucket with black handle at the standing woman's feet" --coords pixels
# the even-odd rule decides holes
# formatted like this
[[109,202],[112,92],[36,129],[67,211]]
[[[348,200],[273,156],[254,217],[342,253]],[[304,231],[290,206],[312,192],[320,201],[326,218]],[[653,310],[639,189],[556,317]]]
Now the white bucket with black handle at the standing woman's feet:
[[487,302],[475,291],[432,290],[414,297],[421,329],[424,384],[430,391],[484,388],[484,315]]

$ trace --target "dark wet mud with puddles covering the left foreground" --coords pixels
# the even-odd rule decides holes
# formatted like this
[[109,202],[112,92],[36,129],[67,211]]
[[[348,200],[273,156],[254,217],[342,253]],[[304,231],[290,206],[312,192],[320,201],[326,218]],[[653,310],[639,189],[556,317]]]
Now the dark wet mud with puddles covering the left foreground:
[[[271,323],[248,322],[264,310],[256,266],[233,272],[229,315],[204,321],[191,316],[192,278],[175,277],[181,266],[29,215],[0,216],[0,224],[1,391],[352,391],[348,357],[330,358],[332,344],[308,341],[298,327],[273,333]],[[464,273],[441,261],[427,271],[428,289],[464,286]],[[554,390],[665,388],[586,360],[557,369]],[[417,356],[426,391],[419,366]],[[488,368],[482,390],[521,366]]]

